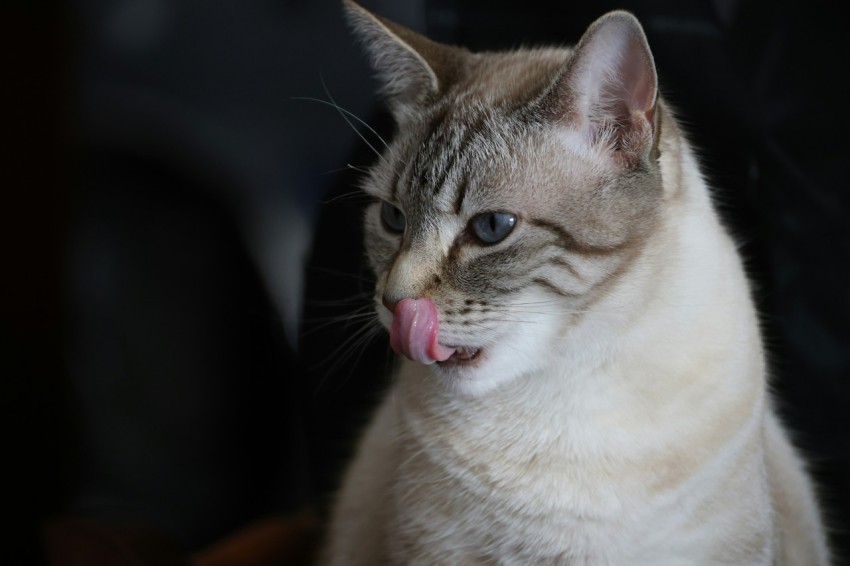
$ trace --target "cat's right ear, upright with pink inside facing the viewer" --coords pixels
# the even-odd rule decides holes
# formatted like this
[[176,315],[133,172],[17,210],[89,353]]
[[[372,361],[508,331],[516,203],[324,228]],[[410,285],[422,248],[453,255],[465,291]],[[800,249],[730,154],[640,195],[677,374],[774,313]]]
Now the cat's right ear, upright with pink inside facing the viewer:
[[643,28],[630,13],[610,12],[588,28],[553,94],[557,118],[587,144],[606,144],[626,165],[650,155],[658,77]]

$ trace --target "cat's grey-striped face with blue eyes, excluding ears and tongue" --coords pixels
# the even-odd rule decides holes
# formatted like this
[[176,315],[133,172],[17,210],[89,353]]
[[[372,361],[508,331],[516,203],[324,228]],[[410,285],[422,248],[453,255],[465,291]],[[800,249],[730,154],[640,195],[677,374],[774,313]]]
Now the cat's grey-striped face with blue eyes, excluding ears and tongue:
[[364,184],[379,318],[391,329],[399,301],[430,300],[439,343],[456,349],[435,367],[467,393],[550,363],[657,217],[646,127],[565,118],[558,89],[572,58],[464,52],[450,86],[406,97]]

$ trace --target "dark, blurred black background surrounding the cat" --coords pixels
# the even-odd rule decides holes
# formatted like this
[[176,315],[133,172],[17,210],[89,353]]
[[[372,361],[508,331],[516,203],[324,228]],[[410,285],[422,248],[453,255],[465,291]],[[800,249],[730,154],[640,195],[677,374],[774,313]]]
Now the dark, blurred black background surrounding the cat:
[[[850,553],[841,18],[787,0],[362,4],[473,50],[641,19]],[[68,517],[196,557],[266,517],[320,524],[392,364],[347,316],[369,302],[356,183],[374,154],[334,105],[393,125],[339,3],[10,0],[0,26],[10,556],[47,563]]]

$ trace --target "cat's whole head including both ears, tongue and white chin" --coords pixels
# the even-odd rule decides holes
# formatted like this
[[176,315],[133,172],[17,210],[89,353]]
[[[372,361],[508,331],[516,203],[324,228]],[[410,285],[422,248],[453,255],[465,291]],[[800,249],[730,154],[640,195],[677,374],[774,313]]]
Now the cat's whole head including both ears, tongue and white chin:
[[394,348],[472,394],[533,372],[658,218],[657,78],[640,24],[612,12],[575,49],[470,53],[345,4],[398,123],[364,182]]

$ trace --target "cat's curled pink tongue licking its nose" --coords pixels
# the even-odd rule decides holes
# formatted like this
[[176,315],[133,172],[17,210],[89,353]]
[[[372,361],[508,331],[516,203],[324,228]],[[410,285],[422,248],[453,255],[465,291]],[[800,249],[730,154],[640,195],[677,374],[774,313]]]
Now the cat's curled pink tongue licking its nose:
[[423,364],[445,361],[454,348],[440,344],[439,333],[437,307],[430,299],[404,299],[396,304],[390,330],[393,350]]

